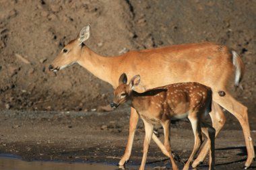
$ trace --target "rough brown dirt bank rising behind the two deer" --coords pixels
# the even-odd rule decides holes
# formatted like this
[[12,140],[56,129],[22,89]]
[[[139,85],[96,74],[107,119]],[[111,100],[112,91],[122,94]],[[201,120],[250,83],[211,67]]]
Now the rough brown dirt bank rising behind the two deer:
[[[1,1],[0,108],[91,110],[112,87],[74,65],[49,73],[49,63],[90,23],[87,46],[99,54],[211,41],[243,56],[246,74],[234,96],[256,109],[254,1]],[[54,101],[54,102],[52,102]]]

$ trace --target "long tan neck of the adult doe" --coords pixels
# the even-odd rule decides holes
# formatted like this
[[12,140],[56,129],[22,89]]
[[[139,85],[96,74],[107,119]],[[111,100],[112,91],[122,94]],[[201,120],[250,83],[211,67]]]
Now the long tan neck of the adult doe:
[[115,57],[105,57],[96,54],[96,52],[90,50],[90,48],[84,46],[80,54],[77,63],[90,71],[94,76],[113,85],[114,82],[111,79],[112,71],[115,70]]

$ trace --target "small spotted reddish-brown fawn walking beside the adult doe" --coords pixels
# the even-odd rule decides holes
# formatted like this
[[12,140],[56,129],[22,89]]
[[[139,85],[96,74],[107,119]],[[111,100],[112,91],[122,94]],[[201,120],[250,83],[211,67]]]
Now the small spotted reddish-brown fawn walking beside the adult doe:
[[139,169],[144,169],[148,153],[148,147],[152,138],[155,124],[161,124],[164,128],[164,146],[172,169],[178,169],[171,154],[170,148],[170,119],[188,117],[195,135],[193,151],[183,169],[189,169],[193,157],[203,142],[202,134],[210,140],[210,169],[215,168],[214,140],[215,130],[204,121],[204,117],[212,110],[212,90],[210,87],[195,82],[176,83],[150,89],[143,93],[137,93],[133,89],[139,85],[140,76],[135,75],[127,85],[127,75],[123,73],[119,78],[119,86],[114,91],[111,108],[117,108],[120,104],[130,101],[143,120],[146,136],[143,143],[143,157]]

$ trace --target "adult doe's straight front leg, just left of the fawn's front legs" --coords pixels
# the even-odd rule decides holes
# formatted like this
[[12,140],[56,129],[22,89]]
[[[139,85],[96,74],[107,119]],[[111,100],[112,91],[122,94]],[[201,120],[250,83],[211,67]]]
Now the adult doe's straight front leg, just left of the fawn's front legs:
[[139,121],[139,115],[137,114],[136,110],[131,108],[131,116],[129,122],[129,137],[128,142],[125,149],[125,154],[123,155],[122,159],[119,161],[119,165],[123,166],[131,156],[131,148],[133,147],[133,138],[135,134],[135,130],[137,128],[137,122]]

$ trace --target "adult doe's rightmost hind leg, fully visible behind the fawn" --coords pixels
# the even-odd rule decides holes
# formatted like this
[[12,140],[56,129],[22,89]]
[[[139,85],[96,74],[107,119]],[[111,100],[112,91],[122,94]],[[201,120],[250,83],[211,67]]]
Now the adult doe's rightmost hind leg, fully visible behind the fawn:
[[255,151],[253,147],[253,138],[251,138],[250,126],[249,126],[249,118],[247,113],[247,107],[245,105],[239,103],[234,99],[228,91],[225,91],[226,95],[220,97],[218,95],[218,91],[214,91],[213,99],[221,105],[223,108],[228,110],[232,115],[236,117],[239,123],[242,126],[243,134],[245,137],[245,144],[247,147],[247,161],[245,162],[245,169],[251,166],[253,159],[255,158]]

